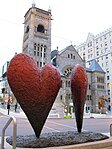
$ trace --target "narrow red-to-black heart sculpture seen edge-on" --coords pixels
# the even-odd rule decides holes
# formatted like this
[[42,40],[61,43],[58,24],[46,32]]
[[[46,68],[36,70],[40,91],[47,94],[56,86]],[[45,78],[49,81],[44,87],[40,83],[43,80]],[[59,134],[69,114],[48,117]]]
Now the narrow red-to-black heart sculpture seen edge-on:
[[77,64],[71,74],[71,92],[75,108],[78,132],[81,132],[83,123],[84,104],[88,87],[88,77],[84,67]]

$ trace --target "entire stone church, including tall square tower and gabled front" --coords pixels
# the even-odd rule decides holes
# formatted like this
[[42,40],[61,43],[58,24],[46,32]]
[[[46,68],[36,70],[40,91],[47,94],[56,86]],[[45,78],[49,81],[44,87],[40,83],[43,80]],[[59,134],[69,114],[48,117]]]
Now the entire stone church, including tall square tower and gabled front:
[[[33,56],[39,67],[43,67],[46,63],[52,63],[59,70],[62,87],[51,113],[55,115],[57,113],[59,117],[63,117],[65,113],[73,113],[74,111],[70,91],[71,71],[76,64],[85,67],[85,61],[72,45],[61,51],[54,50],[51,52],[51,16],[51,10],[45,11],[32,4],[32,7],[25,14],[22,52]],[[100,96],[105,96],[105,80],[104,82],[99,82],[100,87],[102,86],[101,84],[104,85],[104,88],[99,89],[100,92],[98,92],[97,85],[99,83],[96,80],[97,76],[104,77],[105,73],[103,70],[102,72],[95,70],[96,67],[93,69],[94,67],[91,66],[90,69],[87,69],[89,78],[85,107],[87,112],[89,110],[98,112],[99,94]]]

